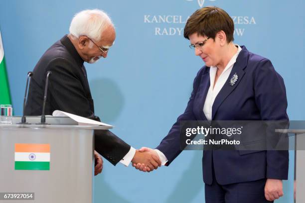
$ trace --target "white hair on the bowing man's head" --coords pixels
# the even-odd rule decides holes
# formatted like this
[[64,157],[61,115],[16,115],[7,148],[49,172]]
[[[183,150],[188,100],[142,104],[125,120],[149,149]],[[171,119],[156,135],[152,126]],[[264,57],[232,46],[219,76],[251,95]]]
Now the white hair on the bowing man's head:
[[[110,17],[103,10],[82,10],[74,15],[69,31],[72,38],[87,36],[94,41],[99,41],[103,35],[103,31],[109,25],[114,27]],[[89,47],[93,47],[91,41]]]

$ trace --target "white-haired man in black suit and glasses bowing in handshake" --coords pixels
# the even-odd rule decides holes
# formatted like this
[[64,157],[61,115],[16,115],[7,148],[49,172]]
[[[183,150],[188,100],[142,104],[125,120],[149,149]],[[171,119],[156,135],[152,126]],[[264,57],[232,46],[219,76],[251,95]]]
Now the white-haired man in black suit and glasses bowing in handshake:
[[[49,78],[45,113],[62,110],[100,121],[94,114],[84,62],[95,63],[106,58],[116,38],[114,25],[103,11],[83,10],[71,21],[70,34],[55,42],[40,58],[33,70],[29,87],[26,115],[40,115],[45,88],[45,75]],[[108,131],[95,131],[95,150],[113,165],[121,162],[128,166],[143,163],[150,170],[160,166],[158,157],[149,152],[139,152]],[[95,151],[95,175],[101,173],[103,161]]]

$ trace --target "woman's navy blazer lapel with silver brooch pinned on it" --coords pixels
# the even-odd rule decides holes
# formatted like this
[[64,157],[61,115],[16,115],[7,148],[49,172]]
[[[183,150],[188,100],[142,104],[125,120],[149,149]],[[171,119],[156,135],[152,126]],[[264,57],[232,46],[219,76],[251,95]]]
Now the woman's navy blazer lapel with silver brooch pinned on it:
[[[242,46],[242,50],[239,53],[236,62],[232,68],[232,71],[226,81],[226,83],[223,85],[222,89],[218,93],[217,97],[215,98],[215,101],[212,106],[212,120],[214,119],[214,116],[221,105],[221,103],[231,94],[231,92],[238,86],[239,82],[242,80],[245,72],[244,68],[247,66],[248,61],[248,50],[245,46]],[[236,73],[238,76],[237,81],[234,85],[230,84],[231,78]]]

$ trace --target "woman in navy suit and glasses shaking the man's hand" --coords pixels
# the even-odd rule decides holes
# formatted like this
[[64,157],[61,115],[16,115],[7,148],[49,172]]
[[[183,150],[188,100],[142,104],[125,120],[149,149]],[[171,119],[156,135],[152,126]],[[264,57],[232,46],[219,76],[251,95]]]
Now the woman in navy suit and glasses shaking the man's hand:
[[[181,152],[182,120],[288,120],[282,77],[268,59],[234,44],[233,33],[232,18],[218,7],[201,8],[187,20],[184,37],[205,66],[184,113],[154,150],[165,165]],[[266,203],[283,196],[288,151],[206,150],[202,165],[206,203]]]

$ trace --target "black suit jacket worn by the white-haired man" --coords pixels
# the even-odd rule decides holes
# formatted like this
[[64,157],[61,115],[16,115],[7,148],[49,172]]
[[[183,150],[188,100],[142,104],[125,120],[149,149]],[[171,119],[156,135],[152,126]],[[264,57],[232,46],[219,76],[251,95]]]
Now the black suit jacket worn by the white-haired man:
[[[51,115],[54,110],[62,110],[100,121],[94,115],[93,100],[83,64],[84,60],[67,35],[55,42],[33,70],[25,114],[41,115],[46,72],[51,71],[45,114]],[[130,145],[109,130],[95,130],[95,150],[116,165],[128,153]]]

